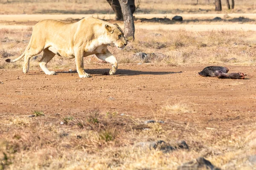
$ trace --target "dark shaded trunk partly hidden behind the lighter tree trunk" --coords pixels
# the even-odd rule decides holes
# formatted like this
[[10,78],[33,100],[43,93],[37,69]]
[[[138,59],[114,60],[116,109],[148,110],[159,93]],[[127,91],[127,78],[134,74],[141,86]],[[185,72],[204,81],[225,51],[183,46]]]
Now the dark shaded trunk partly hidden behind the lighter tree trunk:
[[[113,11],[115,11],[116,13],[116,20],[123,20],[122,9],[121,9],[119,0],[107,0],[107,1],[109,5],[111,5],[111,8],[113,9]],[[128,0],[128,3],[131,8],[131,13],[133,14],[136,9],[135,2],[134,0]]]

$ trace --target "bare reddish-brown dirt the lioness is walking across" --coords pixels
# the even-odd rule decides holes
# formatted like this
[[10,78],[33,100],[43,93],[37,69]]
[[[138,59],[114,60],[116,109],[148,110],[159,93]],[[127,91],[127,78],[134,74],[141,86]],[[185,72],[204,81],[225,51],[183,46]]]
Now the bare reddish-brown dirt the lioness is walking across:
[[[200,77],[203,66],[120,65],[114,76],[103,75],[109,65],[85,66],[92,78],[57,70],[48,76],[41,70],[23,74],[19,70],[0,70],[1,114],[29,115],[81,113],[89,108],[117,111],[152,119],[154,111],[166,103],[186,103],[196,112],[172,115],[169,119],[200,121],[205,127],[221,124],[233,127],[255,119],[256,69],[227,66],[230,72],[243,72],[246,79]],[[56,71],[56,70],[55,70]],[[221,122],[220,122],[221,121]]]

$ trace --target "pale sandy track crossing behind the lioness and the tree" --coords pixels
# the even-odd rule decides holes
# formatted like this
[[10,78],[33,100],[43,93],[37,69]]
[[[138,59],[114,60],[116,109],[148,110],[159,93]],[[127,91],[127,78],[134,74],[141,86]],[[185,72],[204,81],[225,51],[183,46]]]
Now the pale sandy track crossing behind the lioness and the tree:
[[[150,18],[164,18],[172,19],[175,14],[135,14],[137,19],[150,19]],[[135,29],[146,30],[186,30],[186,31],[256,31],[255,18],[256,14],[229,14],[230,18],[246,17],[250,23],[242,23],[239,20],[235,21],[218,21],[211,22],[214,17],[221,17],[223,14],[182,14],[183,20],[186,23],[152,23],[135,21]],[[111,23],[116,23],[113,20],[115,15],[107,14],[12,14],[0,15],[0,29],[29,29],[34,26],[38,21],[45,19],[67,20],[68,22],[78,21],[83,17],[96,17],[99,19],[109,20]],[[117,22],[123,28],[122,22]]]

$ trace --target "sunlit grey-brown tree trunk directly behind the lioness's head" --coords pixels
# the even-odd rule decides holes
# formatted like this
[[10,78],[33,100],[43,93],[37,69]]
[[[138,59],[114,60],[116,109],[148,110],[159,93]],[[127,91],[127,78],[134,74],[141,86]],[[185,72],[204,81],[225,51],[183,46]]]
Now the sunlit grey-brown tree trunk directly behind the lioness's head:
[[125,38],[128,41],[134,41],[134,20],[131,13],[131,9],[128,3],[128,0],[119,0],[122,14],[124,17],[124,23],[125,23]]

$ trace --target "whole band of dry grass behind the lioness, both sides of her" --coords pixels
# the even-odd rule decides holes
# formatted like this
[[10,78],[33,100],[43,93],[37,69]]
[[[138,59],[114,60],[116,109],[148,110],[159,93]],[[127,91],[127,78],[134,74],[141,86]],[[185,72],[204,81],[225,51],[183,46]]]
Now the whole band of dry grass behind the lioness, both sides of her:
[[[23,29],[0,30],[0,68],[20,68],[23,61],[6,63],[9,58],[16,58],[23,53],[32,31]],[[135,41],[127,45],[124,50],[109,46],[109,50],[116,56],[119,63],[165,63],[168,65],[255,65],[256,63],[256,34],[253,31],[164,31],[138,29]],[[136,53],[147,54],[145,59],[137,57]],[[38,68],[38,57],[31,59],[30,68]],[[228,59],[236,58],[236,60]],[[86,64],[102,63],[95,57],[85,57]],[[52,69],[76,68],[74,59],[55,56],[48,67]]]

